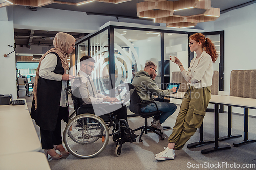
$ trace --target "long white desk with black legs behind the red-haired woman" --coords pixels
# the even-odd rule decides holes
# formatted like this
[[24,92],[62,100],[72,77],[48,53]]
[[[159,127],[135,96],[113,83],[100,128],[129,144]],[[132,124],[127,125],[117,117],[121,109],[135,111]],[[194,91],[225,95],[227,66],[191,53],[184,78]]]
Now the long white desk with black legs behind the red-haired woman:
[[[177,92],[176,94],[171,94],[171,95],[167,95],[167,97],[170,98],[177,98],[177,99],[182,99],[184,96],[185,92]],[[256,142],[255,139],[253,140],[248,140],[248,109],[256,109],[256,99],[252,99],[252,98],[240,98],[240,97],[234,97],[234,96],[222,96],[222,95],[211,95],[211,99],[210,102],[215,105],[215,147],[214,148],[208,148],[205,150],[202,150],[201,153],[202,154],[207,154],[210,152],[215,152],[218,150],[224,150],[224,149],[230,149],[231,146],[229,145],[225,145],[223,147],[219,147],[219,105],[227,105],[229,106],[230,110],[231,107],[242,107],[245,109],[244,112],[244,140],[242,142],[239,143],[233,143],[233,145],[235,147],[239,147],[239,145],[242,144],[246,144],[246,143],[250,143],[250,142]],[[229,111],[230,115],[231,115],[231,111]],[[229,122],[231,122],[231,117],[228,118]],[[208,144],[208,143],[212,143],[213,141],[209,141],[209,142],[204,142],[202,140],[202,127],[200,127],[200,141],[196,142],[196,143],[191,143],[189,145],[187,145],[188,148],[193,148],[192,146],[196,147],[202,144]],[[231,127],[229,127],[231,129]],[[231,136],[232,137],[232,136]],[[230,136],[227,136],[226,138],[230,138]]]

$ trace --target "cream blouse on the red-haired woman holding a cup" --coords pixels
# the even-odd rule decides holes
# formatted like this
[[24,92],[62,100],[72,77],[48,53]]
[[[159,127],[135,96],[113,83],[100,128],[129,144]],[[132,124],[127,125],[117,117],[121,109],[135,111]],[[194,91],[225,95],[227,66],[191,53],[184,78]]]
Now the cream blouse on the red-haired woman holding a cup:
[[183,70],[181,74],[186,81],[190,79],[197,80],[191,83],[188,82],[187,85],[194,86],[195,88],[211,86],[212,76],[214,75],[211,56],[203,51],[200,57],[192,59],[188,71]]

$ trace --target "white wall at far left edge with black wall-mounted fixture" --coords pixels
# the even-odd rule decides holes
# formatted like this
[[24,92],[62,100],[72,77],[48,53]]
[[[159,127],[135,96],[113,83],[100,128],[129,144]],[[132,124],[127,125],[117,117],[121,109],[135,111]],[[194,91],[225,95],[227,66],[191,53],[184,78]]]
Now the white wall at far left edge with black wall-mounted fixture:
[[[6,7],[0,8],[0,11],[6,10]],[[13,10],[8,8],[8,21],[0,21],[0,94],[12,94],[13,99],[17,98],[16,88],[16,65],[15,65],[15,53],[9,54],[4,57],[4,54],[8,54],[14,50],[8,45],[14,46],[14,31],[13,31]],[[1,12],[0,12],[1,13]]]

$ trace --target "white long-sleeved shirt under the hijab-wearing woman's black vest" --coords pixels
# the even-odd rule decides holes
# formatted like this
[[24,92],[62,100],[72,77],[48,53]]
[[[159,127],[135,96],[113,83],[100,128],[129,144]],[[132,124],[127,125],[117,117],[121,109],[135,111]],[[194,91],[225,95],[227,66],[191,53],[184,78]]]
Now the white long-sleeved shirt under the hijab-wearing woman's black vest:
[[[48,80],[55,80],[55,81],[62,81],[62,88],[61,88],[61,97],[60,97],[60,106],[66,107],[67,96],[65,88],[67,87],[67,82],[65,80],[62,80],[62,75],[56,74],[52,71],[54,71],[56,65],[57,65],[58,58],[55,54],[50,53],[45,56],[45,58],[41,62],[40,70],[39,70],[39,76],[44,79]],[[68,74],[68,70],[66,70],[66,73]]]

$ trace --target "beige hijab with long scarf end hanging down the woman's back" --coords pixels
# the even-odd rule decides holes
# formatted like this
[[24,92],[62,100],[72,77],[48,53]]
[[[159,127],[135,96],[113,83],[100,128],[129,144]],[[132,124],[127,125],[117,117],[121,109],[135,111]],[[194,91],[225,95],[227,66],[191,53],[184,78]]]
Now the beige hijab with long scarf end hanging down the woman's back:
[[[45,58],[45,56],[51,52],[55,52],[59,55],[59,58],[61,59],[62,66],[65,70],[69,70],[67,55],[69,55],[67,52],[71,45],[76,41],[76,39],[67,33],[59,32],[55,35],[55,38],[53,40],[53,46],[55,48],[51,48],[48,50],[40,59],[39,65],[37,67],[36,76],[35,76],[35,83],[33,88],[33,98],[35,100],[35,110],[37,108],[37,83],[39,79],[39,70],[41,66],[42,60]],[[66,73],[66,71],[65,71]]]

